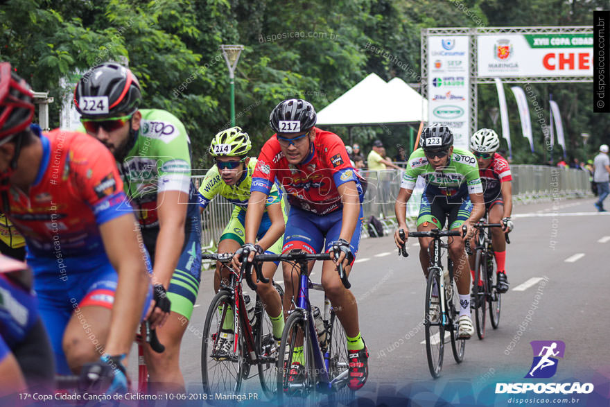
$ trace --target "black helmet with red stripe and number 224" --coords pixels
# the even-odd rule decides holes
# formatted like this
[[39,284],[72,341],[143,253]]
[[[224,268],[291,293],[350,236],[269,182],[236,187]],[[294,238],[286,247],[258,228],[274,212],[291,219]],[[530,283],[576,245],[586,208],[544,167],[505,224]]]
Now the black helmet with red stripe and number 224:
[[94,67],[80,78],[74,89],[76,110],[87,119],[129,116],[138,110],[141,98],[138,78],[116,62]]

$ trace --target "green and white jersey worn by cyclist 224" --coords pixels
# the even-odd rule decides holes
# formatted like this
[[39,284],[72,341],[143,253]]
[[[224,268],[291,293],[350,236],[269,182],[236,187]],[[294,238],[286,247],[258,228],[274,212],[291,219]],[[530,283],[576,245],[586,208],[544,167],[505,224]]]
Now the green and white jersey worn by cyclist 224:
[[[136,144],[119,164],[141,227],[159,227],[157,194],[182,191],[189,194],[187,223],[197,214],[195,184],[191,182],[191,141],[176,116],[165,110],[142,109]],[[186,203],[186,202],[184,202]]]

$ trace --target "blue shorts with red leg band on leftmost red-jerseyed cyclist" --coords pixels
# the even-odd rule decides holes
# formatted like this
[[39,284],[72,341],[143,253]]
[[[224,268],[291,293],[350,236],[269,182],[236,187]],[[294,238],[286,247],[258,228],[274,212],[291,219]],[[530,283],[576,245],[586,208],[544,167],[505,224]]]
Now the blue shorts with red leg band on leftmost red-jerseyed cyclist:
[[[74,259],[71,260],[73,266],[76,266]],[[78,273],[69,273],[64,280],[58,278],[59,272],[56,275],[49,274],[48,267],[45,270],[47,272],[37,272],[36,264],[30,262],[30,266],[37,276],[34,279],[34,290],[38,297],[40,316],[51,339],[51,346],[55,354],[55,367],[59,374],[71,374],[62,347],[68,321],[74,315],[80,320],[83,329],[87,329],[85,324],[90,322],[87,322],[82,315],[82,307],[103,306],[112,309],[119,275],[107,260],[98,261],[96,267],[88,268],[88,272],[79,270]],[[141,320],[146,316],[152,300],[153,288],[150,286],[142,309]],[[98,338],[91,338],[91,340],[100,341]],[[96,344],[94,343],[94,345]],[[102,350],[101,343],[99,346]]]

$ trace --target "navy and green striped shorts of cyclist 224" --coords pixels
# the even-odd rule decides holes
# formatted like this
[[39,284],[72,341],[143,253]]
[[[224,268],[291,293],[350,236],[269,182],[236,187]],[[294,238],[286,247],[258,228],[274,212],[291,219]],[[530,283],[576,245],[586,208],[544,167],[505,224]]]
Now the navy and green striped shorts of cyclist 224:
[[[190,320],[201,281],[201,223],[198,210],[189,212],[193,214],[186,216],[184,244],[167,290],[167,297],[171,301],[171,311]],[[144,244],[153,261],[153,268],[158,235],[158,227],[142,230]]]

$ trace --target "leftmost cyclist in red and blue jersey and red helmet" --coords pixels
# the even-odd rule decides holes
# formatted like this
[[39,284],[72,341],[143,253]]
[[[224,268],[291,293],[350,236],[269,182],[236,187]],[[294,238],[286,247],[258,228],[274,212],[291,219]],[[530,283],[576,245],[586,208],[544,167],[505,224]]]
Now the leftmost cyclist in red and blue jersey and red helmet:
[[152,292],[133,211],[103,144],[42,133],[33,112],[26,82],[0,63],[0,209],[26,239],[58,372],[87,365],[126,390],[125,356]]

